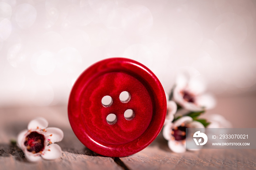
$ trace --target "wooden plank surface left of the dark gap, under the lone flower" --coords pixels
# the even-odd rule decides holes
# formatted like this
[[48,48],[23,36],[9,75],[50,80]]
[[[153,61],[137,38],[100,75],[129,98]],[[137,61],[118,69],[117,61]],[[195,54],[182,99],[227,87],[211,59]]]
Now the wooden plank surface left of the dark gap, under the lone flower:
[[[69,125],[65,106],[5,108],[0,109],[0,116],[0,170],[123,169],[113,158],[97,155],[76,138]],[[17,146],[11,145],[10,140],[16,139],[19,131],[26,129],[27,123],[38,116],[45,117],[49,121],[49,127],[63,130],[64,139],[57,143],[63,150],[60,159],[27,162],[23,152]]]

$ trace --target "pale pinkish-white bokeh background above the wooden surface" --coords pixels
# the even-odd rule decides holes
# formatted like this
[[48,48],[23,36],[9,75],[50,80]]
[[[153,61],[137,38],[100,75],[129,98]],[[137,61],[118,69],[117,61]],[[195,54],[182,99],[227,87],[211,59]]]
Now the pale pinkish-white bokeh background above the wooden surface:
[[149,67],[168,92],[196,69],[215,95],[256,92],[256,1],[0,0],[0,106],[67,104],[109,57]]

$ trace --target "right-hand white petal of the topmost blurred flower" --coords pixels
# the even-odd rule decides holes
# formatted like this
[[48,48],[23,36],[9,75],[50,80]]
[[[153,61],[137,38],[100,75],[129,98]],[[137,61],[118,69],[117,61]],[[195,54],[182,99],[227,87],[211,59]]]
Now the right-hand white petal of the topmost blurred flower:
[[215,98],[211,94],[203,94],[196,97],[196,103],[205,109],[212,109],[216,105]]

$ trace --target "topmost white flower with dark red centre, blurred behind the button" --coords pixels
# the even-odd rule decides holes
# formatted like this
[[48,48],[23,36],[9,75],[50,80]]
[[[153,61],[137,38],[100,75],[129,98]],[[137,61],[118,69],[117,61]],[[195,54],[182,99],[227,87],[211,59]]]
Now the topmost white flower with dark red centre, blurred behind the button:
[[199,76],[181,74],[177,77],[173,89],[173,100],[189,111],[211,109],[215,106],[214,97],[203,94],[204,90],[205,86]]

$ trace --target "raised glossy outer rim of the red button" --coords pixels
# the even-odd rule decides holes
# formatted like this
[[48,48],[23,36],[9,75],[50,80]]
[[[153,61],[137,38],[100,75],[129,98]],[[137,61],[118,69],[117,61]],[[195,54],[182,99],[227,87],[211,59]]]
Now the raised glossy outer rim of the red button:
[[[117,68],[121,70],[118,70]],[[93,78],[108,72],[123,71],[135,76],[139,81],[143,80],[151,88],[154,99],[155,112],[146,131],[137,139],[124,144],[104,143],[99,139],[94,139],[93,134],[87,130],[86,125],[81,119],[79,111],[79,92],[84,91],[87,83]],[[81,84],[86,79],[86,84]],[[77,138],[90,150],[108,157],[125,157],[135,154],[147,147],[157,137],[163,127],[166,117],[166,97],[161,82],[155,74],[143,64],[128,58],[108,58],[94,63],[88,67],[76,80],[72,87],[68,102],[68,118]],[[154,121],[154,122],[153,122]]]

